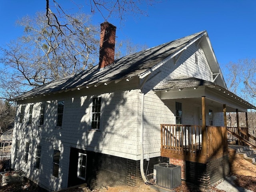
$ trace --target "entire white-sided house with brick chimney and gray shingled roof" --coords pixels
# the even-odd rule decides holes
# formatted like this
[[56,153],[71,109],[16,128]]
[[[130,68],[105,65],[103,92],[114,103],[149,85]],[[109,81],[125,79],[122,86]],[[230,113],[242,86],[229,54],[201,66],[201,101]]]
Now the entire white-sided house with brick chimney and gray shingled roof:
[[[162,155],[161,124],[198,125],[172,128],[169,134],[185,130],[190,135],[178,137],[179,143],[202,144],[201,125],[224,126],[224,108],[255,109],[227,90],[206,31],[117,60],[115,33],[112,24],[101,24],[98,66],[14,98],[11,166],[43,188],[147,182],[154,164],[178,159]],[[210,160],[180,161],[182,177],[190,181],[189,167]],[[220,163],[227,161],[223,153]],[[211,174],[202,186],[229,174],[229,167]]]

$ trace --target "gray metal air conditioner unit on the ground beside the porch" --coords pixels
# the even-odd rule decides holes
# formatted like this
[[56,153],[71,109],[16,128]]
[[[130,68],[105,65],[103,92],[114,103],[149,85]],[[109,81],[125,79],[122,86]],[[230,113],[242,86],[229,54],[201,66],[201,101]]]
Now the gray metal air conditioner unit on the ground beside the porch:
[[154,165],[154,179],[156,185],[174,189],[181,185],[181,166],[169,163]]

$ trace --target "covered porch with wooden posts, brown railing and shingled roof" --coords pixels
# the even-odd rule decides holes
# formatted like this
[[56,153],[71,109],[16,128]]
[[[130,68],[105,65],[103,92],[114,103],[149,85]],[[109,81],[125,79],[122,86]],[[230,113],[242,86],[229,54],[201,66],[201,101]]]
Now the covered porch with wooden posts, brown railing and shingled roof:
[[[247,110],[256,107],[234,93],[213,82],[184,76],[166,82],[155,92],[163,102],[192,103],[199,109],[198,115],[194,114],[194,124],[187,124],[183,118],[187,112],[182,109],[184,105],[178,109],[176,105],[173,109],[176,119],[160,125],[161,156],[206,164],[228,155],[230,141],[252,146],[246,141],[252,138],[248,134]],[[236,113],[236,128],[227,127],[227,112]],[[244,128],[239,126],[241,112],[246,114]],[[214,113],[222,116],[218,122],[213,118]]]

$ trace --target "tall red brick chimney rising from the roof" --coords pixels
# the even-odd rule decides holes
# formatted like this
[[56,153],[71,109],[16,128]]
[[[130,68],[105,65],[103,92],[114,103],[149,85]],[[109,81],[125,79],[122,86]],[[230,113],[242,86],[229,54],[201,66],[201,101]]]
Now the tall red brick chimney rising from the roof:
[[114,63],[116,26],[105,21],[104,23],[100,24],[100,30],[99,69]]

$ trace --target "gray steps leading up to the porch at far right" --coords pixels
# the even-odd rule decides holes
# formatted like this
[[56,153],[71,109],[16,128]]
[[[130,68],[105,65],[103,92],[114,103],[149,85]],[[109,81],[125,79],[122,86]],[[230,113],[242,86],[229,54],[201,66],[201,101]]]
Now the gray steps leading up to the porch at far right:
[[250,150],[247,146],[228,144],[228,148],[236,150],[236,154],[248,162],[256,165],[256,151]]

